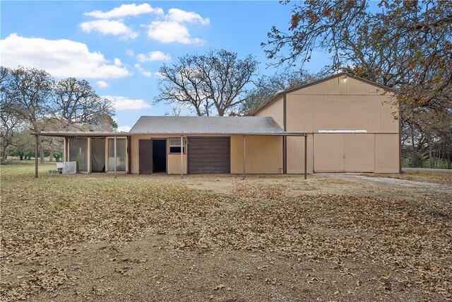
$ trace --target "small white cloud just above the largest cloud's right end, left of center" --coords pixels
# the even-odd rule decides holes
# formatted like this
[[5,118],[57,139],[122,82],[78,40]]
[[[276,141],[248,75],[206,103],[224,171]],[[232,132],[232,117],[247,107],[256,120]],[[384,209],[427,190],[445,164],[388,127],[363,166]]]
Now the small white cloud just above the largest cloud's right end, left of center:
[[95,30],[102,35],[119,35],[126,39],[134,39],[138,37],[138,33],[134,32],[129,26],[125,25],[121,21],[112,21],[112,20],[95,20],[89,22],[83,22],[80,24],[81,29],[85,33],[91,33],[91,31]]

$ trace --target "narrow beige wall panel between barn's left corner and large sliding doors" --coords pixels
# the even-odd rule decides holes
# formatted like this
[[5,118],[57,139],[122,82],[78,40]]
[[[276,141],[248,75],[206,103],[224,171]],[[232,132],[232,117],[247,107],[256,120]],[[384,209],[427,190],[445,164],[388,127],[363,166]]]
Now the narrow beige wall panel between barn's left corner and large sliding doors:
[[[312,173],[312,139],[307,138],[307,173]],[[287,173],[304,173],[304,137],[287,137]]]

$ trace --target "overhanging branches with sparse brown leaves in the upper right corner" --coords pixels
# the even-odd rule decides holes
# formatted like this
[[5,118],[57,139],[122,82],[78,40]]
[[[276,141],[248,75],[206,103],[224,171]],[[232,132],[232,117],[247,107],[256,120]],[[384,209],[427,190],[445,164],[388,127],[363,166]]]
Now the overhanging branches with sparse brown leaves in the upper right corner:
[[288,30],[273,27],[263,43],[275,64],[327,50],[331,71],[362,66],[372,81],[398,88],[400,101],[451,106],[444,94],[452,84],[452,1],[380,1],[372,9],[365,0],[296,1]]

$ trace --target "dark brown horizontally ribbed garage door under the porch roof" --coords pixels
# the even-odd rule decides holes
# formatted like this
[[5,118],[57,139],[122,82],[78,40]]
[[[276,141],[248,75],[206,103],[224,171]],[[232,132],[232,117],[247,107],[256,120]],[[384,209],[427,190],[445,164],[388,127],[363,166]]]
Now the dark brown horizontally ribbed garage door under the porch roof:
[[230,173],[229,137],[190,137],[189,173]]

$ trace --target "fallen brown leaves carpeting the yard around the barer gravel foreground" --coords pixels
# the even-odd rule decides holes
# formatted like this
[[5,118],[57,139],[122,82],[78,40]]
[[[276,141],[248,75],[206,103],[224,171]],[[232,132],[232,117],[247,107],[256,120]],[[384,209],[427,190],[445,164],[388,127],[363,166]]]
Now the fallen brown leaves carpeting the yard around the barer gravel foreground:
[[[150,232],[177,236],[176,250],[278,252],[331,262],[343,276],[354,274],[343,267],[344,259],[366,259],[405,274],[403,279],[376,275],[382,290],[402,284],[452,298],[450,203],[291,196],[284,185],[261,185],[258,178],[233,181],[231,194],[215,194],[170,177],[2,178],[0,294],[17,300],[72,286],[76,281],[63,269],[45,263],[48,255],[77,252],[71,250],[74,243],[124,242]],[[17,269],[39,262],[48,268],[25,274]],[[116,271],[128,272],[127,264]],[[267,282],[280,283],[270,277]],[[104,291],[93,288],[93,293]]]

